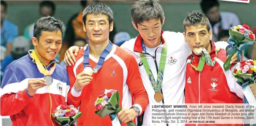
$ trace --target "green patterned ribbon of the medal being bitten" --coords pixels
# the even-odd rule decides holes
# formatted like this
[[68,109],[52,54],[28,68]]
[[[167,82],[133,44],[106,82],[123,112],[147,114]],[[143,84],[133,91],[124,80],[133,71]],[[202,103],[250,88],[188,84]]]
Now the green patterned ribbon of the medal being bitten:
[[193,58],[194,58],[193,55],[192,55],[191,60],[190,60],[190,65],[191,65],[192,67],[194,67],[196,71],[202,71],[202,70],[203,70],[205,61],[206,61],[206,64],[207,64],[208,66],[214,66],[214,65],[215,65],[215,62],[216,62],[217,52],[219,52],[219,51],[220,51],[220,48],[216,48],[216,50],[215,50],[215,58],[214,58],[214,60],[212,61],[209,52],[207,52],[207,50],[205,50],[205,48],[203,48],[203,50],[202,50],[203,54],[202,54],[201,57],[200,57],[198,66],[195,67],[195,66],[192,64],[192,60],[193,60]]

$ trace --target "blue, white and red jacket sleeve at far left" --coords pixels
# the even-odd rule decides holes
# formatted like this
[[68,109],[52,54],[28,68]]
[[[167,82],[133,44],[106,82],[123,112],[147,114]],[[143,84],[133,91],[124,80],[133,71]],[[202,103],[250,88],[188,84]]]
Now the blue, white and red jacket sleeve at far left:
[[[24,80],[25,81],[25,80]],[[1,86],[1,116],[10,116],[21,112],[26,105],[28,105],[31,97],[28,95],[26,89],[13,93],[8,84],[19,84],[28,82],[19,82],[15,73],[11,68],[4,71],[2,86]],[[15,86],[15,85],[14,85]],[[10,91],[9,91],[10,90]],[[10,94],[8,92],[11,92]]]

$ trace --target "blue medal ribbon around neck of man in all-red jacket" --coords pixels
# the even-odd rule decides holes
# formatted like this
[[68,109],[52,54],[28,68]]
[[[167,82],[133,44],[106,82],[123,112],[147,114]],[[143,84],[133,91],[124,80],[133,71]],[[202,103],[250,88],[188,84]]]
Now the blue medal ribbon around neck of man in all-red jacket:
[[[95,74],[96,74],[96,73],[99,71],[99,69],[102,67],[103,62],[104,62],[105,58],[107,57],[107,55],[109,54],[109,52],[111,51],[112,47],[113,47],[113,44],[109,41],[109,44],[107,45],[107,47],[106,47],[106,48],[103,50],[103,52],[101,53],[97,65],[92,69],[92,71],[93,71]],[[87,48],[85,49],[85,51],[84,51],[84,62],[83,62],[84,68],[89,65],[89,50],[90,50],[90,48],[89,48],[89,44],[88,44],[88,47],[87,47]]]

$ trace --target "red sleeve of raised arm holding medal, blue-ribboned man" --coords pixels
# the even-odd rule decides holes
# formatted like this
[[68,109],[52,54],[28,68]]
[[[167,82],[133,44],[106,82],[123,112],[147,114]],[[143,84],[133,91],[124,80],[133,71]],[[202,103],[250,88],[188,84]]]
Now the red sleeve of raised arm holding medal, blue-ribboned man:
[[74,75],[73,69],[74,69],[74,65],[67,66],[67,74],[69,75],[69,80],[70,80],[70,90],[69,90],[69,93],[67,94],[67,104],[74,105],[74,107],[78,107],[80,106],[80,102],[81,102],[81,92],[79,93],[74,90],[74,83],[76,82],[76,76]]

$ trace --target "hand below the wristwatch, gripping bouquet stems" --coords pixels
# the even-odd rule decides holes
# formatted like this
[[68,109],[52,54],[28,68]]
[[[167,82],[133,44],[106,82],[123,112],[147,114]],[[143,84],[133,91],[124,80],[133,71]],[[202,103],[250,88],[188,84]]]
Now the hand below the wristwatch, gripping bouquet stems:
[[117,118],[122,122],[127,123],[133,121],[137,115],[138,113],[134,109],[123,109],[117,113]]

